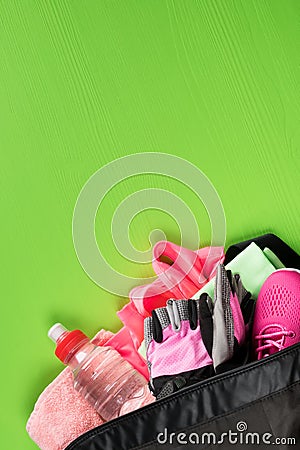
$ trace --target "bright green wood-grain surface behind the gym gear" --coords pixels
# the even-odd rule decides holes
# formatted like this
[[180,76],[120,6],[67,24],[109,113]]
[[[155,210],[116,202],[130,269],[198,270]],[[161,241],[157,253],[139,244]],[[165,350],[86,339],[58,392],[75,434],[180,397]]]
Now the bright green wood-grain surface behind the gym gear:
[[[72,243],[76,198],[105,163],[186,158],[222,199],[227,244],[272,230],[300,250],[299,24],[299,0],[0,1],[1,448],[36,448],[25,423],[61,370],[48,327],[120,326],[124,300],[93,284]],[[209,241],[188,189],[158,176],[120,186],[97,228],[118,268],[111,214],[141,188],[176,192]],[[179,241],[152,210],[133,221],[134,244],[154,228]]]

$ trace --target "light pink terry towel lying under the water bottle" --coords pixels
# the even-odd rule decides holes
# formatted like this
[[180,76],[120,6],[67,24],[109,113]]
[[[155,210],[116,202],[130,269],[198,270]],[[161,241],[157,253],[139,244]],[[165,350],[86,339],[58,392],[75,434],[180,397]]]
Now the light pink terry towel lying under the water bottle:
[[[105,345],[113,333],[105,330],[93,339]],[[149,401],[153,401],[149,393]],[[42,392],[27,422],[31,439],[42,450],[63,450],[81,434],[103,424],[95,409],[73,387],[73,375],[67,367]]]

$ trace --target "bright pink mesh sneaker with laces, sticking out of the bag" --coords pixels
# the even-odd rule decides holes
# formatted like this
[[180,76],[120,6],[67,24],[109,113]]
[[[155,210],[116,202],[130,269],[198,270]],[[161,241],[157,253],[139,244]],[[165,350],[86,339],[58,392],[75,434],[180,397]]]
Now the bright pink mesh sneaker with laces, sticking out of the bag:
[[253,345],[262,359],[300,342],[300,271],[280,269],[264,282],[256,303]]

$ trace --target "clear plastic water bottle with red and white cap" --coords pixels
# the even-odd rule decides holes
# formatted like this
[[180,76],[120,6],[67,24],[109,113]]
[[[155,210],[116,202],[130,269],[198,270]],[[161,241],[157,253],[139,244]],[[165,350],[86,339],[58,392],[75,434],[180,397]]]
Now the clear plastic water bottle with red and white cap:
[[60,323],[48,336],[56,343],[56,356],[72,370],[75,389],[104,420],[154,401],[146,379],[116,350],[94,345],[81,331],[68,331]]

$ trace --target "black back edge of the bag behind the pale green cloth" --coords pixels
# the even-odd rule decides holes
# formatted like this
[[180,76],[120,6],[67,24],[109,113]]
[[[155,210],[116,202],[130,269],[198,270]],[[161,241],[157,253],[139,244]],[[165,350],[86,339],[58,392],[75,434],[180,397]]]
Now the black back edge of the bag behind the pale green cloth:
[[268,247],[286,267],[300,269],[300,256],[282,239],[272,233],[264,234],[256,238],[249,239],[248,241],[231,245],[226,252],[224,264],[228,264],[232,261],[233,258],[245,250],[251,242],[255,242],[255,244],[262,250]]

